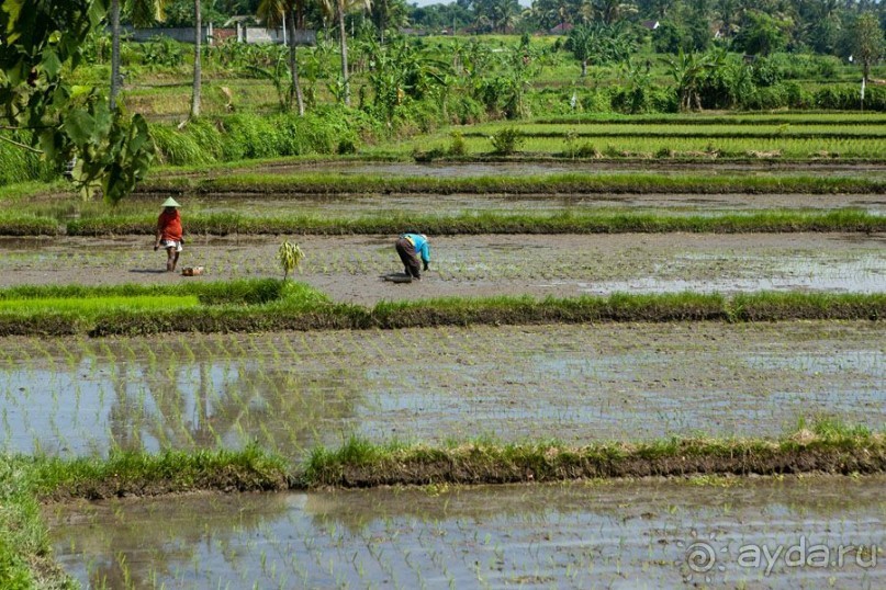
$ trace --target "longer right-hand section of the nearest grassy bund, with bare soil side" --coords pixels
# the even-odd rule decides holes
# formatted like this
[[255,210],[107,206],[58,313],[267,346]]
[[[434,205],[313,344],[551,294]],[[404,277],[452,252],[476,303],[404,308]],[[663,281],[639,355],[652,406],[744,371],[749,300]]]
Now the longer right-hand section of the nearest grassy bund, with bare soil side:
[[585,446],[479,441],[435,447],[352,438],[337,450],[314,449],[295,479],[312,488],[884,470],[883,434],[827,421],[777,440],[672,438]]

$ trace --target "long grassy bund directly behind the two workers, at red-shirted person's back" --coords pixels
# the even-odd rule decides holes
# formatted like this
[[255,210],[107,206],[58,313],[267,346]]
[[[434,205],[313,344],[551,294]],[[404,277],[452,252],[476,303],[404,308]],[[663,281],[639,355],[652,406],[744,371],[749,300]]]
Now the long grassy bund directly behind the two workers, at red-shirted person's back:
[[[793,232],[884,231],[886,216],[857,209],[822,213],[766,211],[721,215],[661,215],[653,213],[509,214],[497,212],[460,215],[385,215],[328,217],[279,215],[251,217],[236,214],[186,216],[193,235],[360,235],[396,234],[404,227],[420,227],[431,235],[479,234],[625,234],[625,232]],[[71,236],[149,235],[156,219],[149,216],[94,217],[68,224]]]

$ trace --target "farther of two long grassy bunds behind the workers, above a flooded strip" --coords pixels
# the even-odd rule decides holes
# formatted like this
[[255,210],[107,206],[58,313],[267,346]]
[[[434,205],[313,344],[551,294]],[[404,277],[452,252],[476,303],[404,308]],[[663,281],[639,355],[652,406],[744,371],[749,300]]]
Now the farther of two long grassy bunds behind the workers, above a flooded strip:
[[327,173],[232,174],[175,178],[141,185],[142,193],[258,194],[599,194],[599,193],[867,193],[886,192],[886,181],[834,175],[711,175],[564,173],[534,177],[383,177]]

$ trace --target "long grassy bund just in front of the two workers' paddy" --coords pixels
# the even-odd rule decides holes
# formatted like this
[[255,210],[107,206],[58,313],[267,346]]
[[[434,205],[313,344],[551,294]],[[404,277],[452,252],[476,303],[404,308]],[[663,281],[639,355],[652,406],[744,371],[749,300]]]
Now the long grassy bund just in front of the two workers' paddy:
[[[281,281],[276,281],[281,283]],[[224,283],[216,285],[221,286]],[[400,329],[433,326],[584,324],[609,321],[775,321],[886,318],[886,294],[664,293],[536,299],[438,298],[335,304],[316,290],[288,283],[273,299],[218,302],[184,308],[121,307],[83,313],[44,306],[0,314],[0,336],[136,336],[167,332],[260,332],[324,329]],[[273,290],[268,288],[269,293]],[[0,300],[3,292],[0,291]]]

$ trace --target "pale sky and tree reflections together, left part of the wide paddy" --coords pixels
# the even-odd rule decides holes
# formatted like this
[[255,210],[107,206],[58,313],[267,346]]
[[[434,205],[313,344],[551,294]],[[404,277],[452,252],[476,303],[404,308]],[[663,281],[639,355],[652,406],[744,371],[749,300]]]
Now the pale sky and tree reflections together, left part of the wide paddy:
[[[192,343],[193,342],[193,343]],[[9,451],[103,454],[240,447],[256,441],[293,459],[340,441],[361,375],[300,363],[237,338],[22,341],[2,363]],[[223,350],[218,350],[223,349]]]

